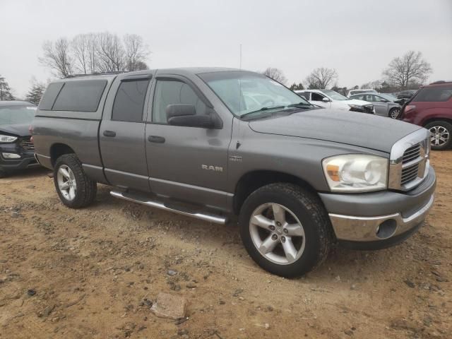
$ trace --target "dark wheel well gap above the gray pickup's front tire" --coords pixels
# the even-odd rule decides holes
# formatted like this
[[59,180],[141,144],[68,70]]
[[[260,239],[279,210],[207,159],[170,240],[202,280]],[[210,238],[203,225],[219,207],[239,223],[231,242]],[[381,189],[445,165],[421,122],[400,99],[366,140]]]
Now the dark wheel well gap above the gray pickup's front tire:
[[275,171],[254,171],[246,173],[240,178],[235,188],[234,213],[239,214],[245,199],[256,189],[275,182],[289,182],[308,189],[316,194],[310,184],[295,175]]

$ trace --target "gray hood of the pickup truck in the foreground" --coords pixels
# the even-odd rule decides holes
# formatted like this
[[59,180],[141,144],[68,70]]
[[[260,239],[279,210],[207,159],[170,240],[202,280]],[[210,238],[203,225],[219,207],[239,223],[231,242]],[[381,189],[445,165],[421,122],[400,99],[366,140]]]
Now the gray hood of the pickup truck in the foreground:
[[386,117],[333,109],[312,109],[249,122],[253,131],[297,136],[390,153],[396,141],[422,127]]

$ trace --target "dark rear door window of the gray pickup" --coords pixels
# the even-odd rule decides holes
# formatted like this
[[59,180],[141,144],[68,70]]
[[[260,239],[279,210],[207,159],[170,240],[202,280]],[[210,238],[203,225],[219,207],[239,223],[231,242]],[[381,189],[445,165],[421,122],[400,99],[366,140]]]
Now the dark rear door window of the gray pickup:
[[112,120],[143,121],[143,109],[149,79],[121,81],[114,98]]

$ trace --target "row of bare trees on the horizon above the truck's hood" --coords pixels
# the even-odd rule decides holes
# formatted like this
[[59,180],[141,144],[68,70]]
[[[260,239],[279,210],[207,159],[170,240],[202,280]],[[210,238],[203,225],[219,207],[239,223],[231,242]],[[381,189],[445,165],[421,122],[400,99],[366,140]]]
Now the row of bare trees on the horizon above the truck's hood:
[[[287,78],[280,69],[268,67],[262,73],[284,85],[287,84]],[[388,67],[382,71],[381,80],[369,81],[362,84],[361,88],[375,89],[381,93],[419,88],[420,85],[427,81],[430,73],[432,73],[432,67],[422,58],[422,53],[409,51],[403,54],[402,57],[396,57],[391,60]],[[311,71],[304,81],[292,83],[289,88],[291,90],[331,88],[343,95],[346,95],[350,89],[359,88],[358,85],[353,88],[340,87],[338,78],[338,71],[335,69],[320,67]]]

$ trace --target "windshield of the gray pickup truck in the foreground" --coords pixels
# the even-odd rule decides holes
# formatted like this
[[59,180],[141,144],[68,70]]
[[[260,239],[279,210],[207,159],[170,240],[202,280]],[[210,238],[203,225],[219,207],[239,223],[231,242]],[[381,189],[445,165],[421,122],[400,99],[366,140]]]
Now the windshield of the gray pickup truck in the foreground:
[[230,111],[242,117],[263,109],[282,109],[291,105],[309,105],[304,98],[266,76],[245,72],[227,71],[202,73],[205,81]]

